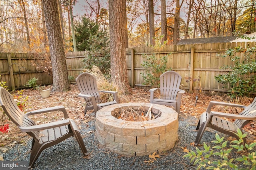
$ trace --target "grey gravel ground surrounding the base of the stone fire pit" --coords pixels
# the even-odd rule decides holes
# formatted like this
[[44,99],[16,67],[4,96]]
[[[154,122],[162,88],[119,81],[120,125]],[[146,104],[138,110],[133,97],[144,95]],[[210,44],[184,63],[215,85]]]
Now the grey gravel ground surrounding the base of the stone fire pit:
[[[186,154],[182,148],[188,150],[196,150],[196,147],[190,145],[196,137],[197,132],[194,131],[196,128],[197,118],[180,116],[179,128],[178,128],[178,141],[173,149],[167,150],[160,154],[160,158],[156,158],[154,162],[148,164],[148,156],[122,156],[114,154],[104,147],[100,146],[94,131],[94,120],[92,119],[88,123],[81,123],[82,128],[80,133],[82,134],[86,149],[90,153],[88,158],[82,158],[80,147],[74,137],[66,139],[53,147],[47,148],[42,151],[39,158],[34,164],[34,170],[146,170],[146,169],[157,169],[157,170],[194,170],[196,166],[190,163],[190,160],[183,158]],[[220,134],[222,137],[223,134]],[[202,137],[201,143],[206,142],[210,145],[210,141],[215,139],[214,131],[206,131]],[[16,144],[9,151],[4,153],[4,160],[18,160],[18,161],[29,161],[30,148],[32,144],[32,138],[29,138],[27,145]],[[202,147],[201,147],[202,148]]]

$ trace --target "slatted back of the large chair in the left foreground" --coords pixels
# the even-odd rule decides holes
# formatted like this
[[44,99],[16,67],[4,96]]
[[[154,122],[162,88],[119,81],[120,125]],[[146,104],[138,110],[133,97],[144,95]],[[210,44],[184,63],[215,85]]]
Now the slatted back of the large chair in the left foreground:
[[[0,104],[4,109],[6,115],[15,123],[18,127],[29,127],[36,125],[36,123],[24,116],[24,113],[17,106],[12,95],[4,88],[0,87]],[[28,135],[39,140],[39,131],[27,132]]]

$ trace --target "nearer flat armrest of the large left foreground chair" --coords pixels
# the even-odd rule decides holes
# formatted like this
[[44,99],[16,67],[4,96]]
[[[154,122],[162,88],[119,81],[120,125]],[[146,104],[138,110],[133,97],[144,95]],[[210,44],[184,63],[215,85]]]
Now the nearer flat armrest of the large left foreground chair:
[[45,129],[51,129],[54,127],[60,127],[60,126],[69,125],[69,124],[70,124],[70,120],[64,119],[61,121],[50,122],[50,123],[45,123],[45,124],[41,124],[41,125],[34,125],[34,126],[28,126],[28,127],[22,126],[22,127],[20,127],[20,130],[22,132],[42,131]]

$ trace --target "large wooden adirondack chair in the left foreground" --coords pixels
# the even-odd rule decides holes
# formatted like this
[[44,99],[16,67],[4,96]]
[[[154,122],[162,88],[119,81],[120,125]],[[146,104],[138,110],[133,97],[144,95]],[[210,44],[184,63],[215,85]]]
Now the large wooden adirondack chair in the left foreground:
[[[44,149],[56,145],[71,136],[76,137],[76,140],[82,150],[82,154],[84,156],[87,155],[86,147],[84,146],[84,142],[78,131],[76,123],[74,120],[68,119],[68,113],[63,106],[39,109],[24,114],[15,103],[12,95],[2,87],[0,87],[0,104],[6,115],[13,121],[13,123],[15,123],[22,132],[26,132],[28,135],[33,137],[28,168],[32,168],[34,162]],[[32,119],[28,118],[29,115],[50,111],[62,111],[65,119],[36,125]]]

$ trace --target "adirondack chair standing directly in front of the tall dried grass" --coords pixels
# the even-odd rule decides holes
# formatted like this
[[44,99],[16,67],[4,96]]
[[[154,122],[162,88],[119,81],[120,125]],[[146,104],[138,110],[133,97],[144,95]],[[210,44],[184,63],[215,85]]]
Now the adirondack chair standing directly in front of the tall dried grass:
[[[78,96],[84,98],[86,102],[84,115],[86,114],[87,110],[94,109],[94,112],[96,113],[102,107],[116,104],[119,102],[117,92],[106,90],[99,91],[97,87],[96,77],[88,72],[83,72],[82,74],[79,74],[76,78],[76,84],[78,86],[78,89],[80,90]],[[114,100],[102,103],[102,101],[100,100],[100,92],[112,94]]]

